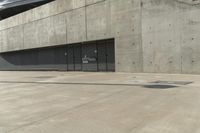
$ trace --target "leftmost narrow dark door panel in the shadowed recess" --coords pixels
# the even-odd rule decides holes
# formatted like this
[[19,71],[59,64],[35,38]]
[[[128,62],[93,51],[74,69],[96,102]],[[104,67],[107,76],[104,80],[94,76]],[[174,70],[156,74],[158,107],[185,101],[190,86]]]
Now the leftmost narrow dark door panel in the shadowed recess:
[[68,71],[74,71],[74,49],[73,46],[67,47],[67,56],[68,56]]

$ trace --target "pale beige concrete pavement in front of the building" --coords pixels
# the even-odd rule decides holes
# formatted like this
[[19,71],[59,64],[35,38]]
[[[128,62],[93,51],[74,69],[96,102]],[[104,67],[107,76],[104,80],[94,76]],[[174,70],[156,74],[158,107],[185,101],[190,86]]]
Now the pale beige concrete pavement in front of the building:
[[199,79],[0,72],[0,133],[200,133]]

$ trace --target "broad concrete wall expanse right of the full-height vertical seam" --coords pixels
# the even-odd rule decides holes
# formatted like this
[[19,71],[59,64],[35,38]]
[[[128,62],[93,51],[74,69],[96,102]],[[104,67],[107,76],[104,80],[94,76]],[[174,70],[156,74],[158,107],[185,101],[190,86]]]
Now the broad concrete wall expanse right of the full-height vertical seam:
[[144,72],[200,73],[199,12],[198,0],[143,0]]

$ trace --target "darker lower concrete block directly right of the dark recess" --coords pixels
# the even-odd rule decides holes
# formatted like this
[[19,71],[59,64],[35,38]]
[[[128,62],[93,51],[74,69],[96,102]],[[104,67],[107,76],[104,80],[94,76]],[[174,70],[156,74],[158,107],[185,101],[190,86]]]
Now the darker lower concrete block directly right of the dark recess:
[[121,72],[141,72],[142,52],[140,36],[115,38],[116,70]]

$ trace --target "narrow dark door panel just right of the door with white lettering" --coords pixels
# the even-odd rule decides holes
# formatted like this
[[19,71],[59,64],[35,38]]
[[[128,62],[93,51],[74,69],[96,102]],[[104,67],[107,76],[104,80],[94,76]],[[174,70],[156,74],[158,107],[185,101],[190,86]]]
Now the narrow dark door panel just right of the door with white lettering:
[[106,59],[106,44],[105,41],[97,43],[98,50],[98,71],[107,70],[107,59]]

